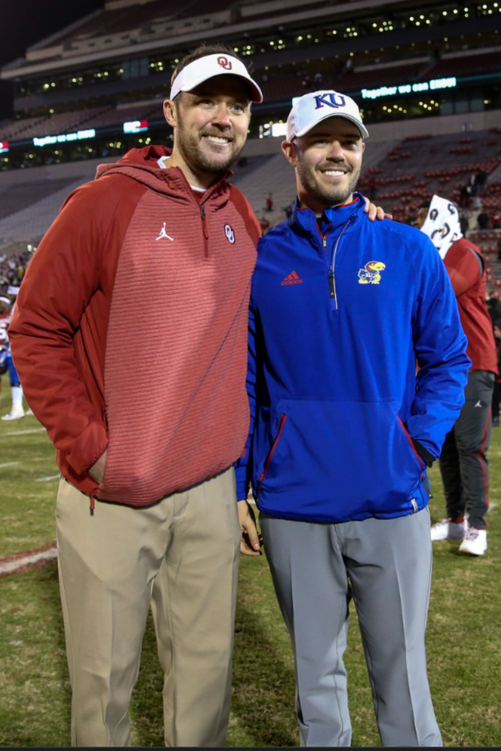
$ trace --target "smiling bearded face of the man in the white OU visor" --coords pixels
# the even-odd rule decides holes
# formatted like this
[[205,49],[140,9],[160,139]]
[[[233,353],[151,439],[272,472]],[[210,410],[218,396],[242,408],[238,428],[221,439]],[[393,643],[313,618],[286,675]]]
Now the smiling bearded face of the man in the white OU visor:
[[181,167],[191,185],[207,187],[225,173],[246,142],[250,122],[249,89],[237,76],[210,78],[191,92],[164,102],[174,128],[172,166]]

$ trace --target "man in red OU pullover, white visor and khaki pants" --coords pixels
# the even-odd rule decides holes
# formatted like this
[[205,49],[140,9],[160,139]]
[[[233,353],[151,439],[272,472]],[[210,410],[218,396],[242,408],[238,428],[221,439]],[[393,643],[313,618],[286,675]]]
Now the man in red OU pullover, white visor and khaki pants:
[[[183,59],[164,102],[173,151],[132,149],[71,194],[38,246],[9,330],[62,472],[59,581],[76,746],[130,744],[150,601],[166,745],[225,745],[239,550],[260,554],[249,506],[234,502],[233,469],[249,427],[259,225],[225,179],[252,101],[260,89],[230,50]],[[134,381],[131,341],[143,363]]]

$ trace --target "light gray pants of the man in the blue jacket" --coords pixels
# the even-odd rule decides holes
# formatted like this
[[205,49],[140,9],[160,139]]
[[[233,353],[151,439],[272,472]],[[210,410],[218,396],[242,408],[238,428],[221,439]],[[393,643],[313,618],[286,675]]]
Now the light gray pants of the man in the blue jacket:
[[291,635],[301,745],[349,746],[343,653],[353,597],[383,746],[442,746],[424,632],[430,514],[319,524],[259,517]]

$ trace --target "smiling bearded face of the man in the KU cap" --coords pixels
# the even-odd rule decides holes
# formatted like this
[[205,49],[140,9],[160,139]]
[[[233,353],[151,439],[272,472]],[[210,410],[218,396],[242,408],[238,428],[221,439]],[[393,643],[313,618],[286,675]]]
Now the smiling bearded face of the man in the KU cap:
[[284,141],[282,149],[296,170],[297,196],[321,213],[351,200],[360,177],[365,143],[345,117],[329,117],[309,133]]

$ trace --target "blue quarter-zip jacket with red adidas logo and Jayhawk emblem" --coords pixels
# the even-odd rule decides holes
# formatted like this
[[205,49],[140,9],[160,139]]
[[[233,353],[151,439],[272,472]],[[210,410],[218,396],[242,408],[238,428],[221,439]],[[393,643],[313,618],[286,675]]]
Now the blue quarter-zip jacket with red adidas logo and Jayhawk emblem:
[[[364,201],[295,207],[258,245],[249,311],[249,482],[274,517],[343,522],[427,505],[412,439],[439,456],[464,403],[466,337],[445,266]],[[419,369],[416,375],[416,361]]]

